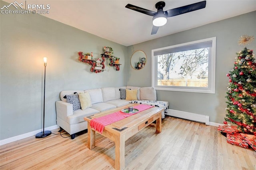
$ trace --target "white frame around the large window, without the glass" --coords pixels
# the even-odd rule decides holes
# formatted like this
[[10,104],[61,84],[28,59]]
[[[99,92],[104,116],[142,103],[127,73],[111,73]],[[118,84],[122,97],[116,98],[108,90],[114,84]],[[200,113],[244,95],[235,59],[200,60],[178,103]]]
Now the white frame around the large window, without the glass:
[[[157,57],[154,56],[154,52],[166,50],[170,48],[177,48],[177,47],[188,46],[188,45],[193,45],[193,44],[198,44],[203,42],[209,42],[209,41],[212,41],[212,48],[210,48],[210,52],[209,52],[210,55],[208,60],[208,87],[207,88],[184,87],[184,86],[158,86],[157,85],[157,81],[158,81]],[[216,67],[216,37],[153,49],[152,50],[152,87],[156,88],[156,90],[215,94],[215,67]]]

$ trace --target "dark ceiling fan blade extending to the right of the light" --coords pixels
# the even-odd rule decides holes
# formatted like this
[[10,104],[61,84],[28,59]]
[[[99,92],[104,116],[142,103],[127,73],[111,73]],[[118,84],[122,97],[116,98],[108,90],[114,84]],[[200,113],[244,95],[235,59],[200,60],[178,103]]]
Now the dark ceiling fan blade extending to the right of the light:
[[205,8],[205,6],[206,6],[206,0],[197,2],[194,4],[190,4],[190,5],[186,5],[186,6],[181,6],[179,8],[167,10],[165,11],[165,13],[167,13],[167,17],[171,17],[171,16],[180,15],[180,14],[185,14],[187,12],[192,12],[195,10],[200,10],[202,8]]

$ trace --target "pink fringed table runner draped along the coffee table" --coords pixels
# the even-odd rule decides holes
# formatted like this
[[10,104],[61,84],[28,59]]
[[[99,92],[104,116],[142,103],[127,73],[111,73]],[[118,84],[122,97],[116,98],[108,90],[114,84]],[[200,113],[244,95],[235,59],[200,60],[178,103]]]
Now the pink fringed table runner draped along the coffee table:
[[[143,110],[146,110],[146,109],[149,109],[152,107],[154,107],[154,106],[150,106],[150,105],[146,105],[146,104],[139,104],[137,106],[134,106],[133,108],[138,109],[139,110],[138,112],[142,112]],[[137,113],[134,113],[134,114],[137,114]],[[96,130],[97,132],[102,134],[105,126],[112,124],[114,122],[117,122],[119,120],[122,120],[124,118],[127,118],[129,116],[132,116],[134,114],[127,114],[127,113],[123,113],[121,111],[114,112],[112,114],[108,114],[108,115],[102,116],[100,118],[92,119],[90,121],[90,126],[91,126],[91,128],[94,128],[94,130]]]

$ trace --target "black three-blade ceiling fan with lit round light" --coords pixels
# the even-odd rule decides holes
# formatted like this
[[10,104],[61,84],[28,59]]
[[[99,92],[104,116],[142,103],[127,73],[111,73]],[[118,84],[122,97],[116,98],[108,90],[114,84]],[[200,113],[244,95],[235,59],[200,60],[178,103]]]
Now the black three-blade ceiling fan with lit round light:
[[146,15],[153,16],[153,28],[152,28],[152,31],[151,31],[151,35],[152,35],[152,34],[156,34],[156,32],[158,31],[158,28],[160,26],[163,26],[164,24],[166,24],[168,17],[172,17],[172,16],[176,16],[176,15],[180,15],[180,14],[185,14],[187,12],[192,12],[192,11],[195,11],[195,10],[200,10],[202,8],[205,8],[206,0],[201,1],[201,2],[197,2],[197,3],[194,3],[194,4],[190,4],[190,5],[170,9],[170,10],[167,10],[167,11],[163,10],[164,6],[165,6],[165,2],[163,2],[163,1],[157,2],[156,3],[157,12],[147,10],[147,9],[144,9],[144,8],[132,5],[132,4],[127,4],[125,6],[125,8],[129,8],[131,10],[141,12],[141,13],[146,14]]

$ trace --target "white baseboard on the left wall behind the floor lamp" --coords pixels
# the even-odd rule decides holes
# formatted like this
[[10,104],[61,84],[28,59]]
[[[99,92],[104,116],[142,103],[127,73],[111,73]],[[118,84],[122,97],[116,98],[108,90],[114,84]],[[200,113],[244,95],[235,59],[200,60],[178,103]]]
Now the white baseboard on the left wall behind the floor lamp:
[[[60,126],[58,126],[58,125],[54,125],[54,126],[50,126],[50,127],[44,128],[44,130],[54,130],[54,129],[57,129],[59,127]],[[18,135],[18,136],[14,136],[14,137],[11,137],[11,138],[0,140],[0,146],[4,145],[4,144],[8,144],[10,142],[14,142],[14,141],[20,140],[20,139],[28,138],[30,136],[35,136],[37,133],[42,132],[42,131],[43,131],[43,129],[39,129],[39,130],[35,130],[33,132],[28,132],[26,134],[21,134],[21,135]]]

